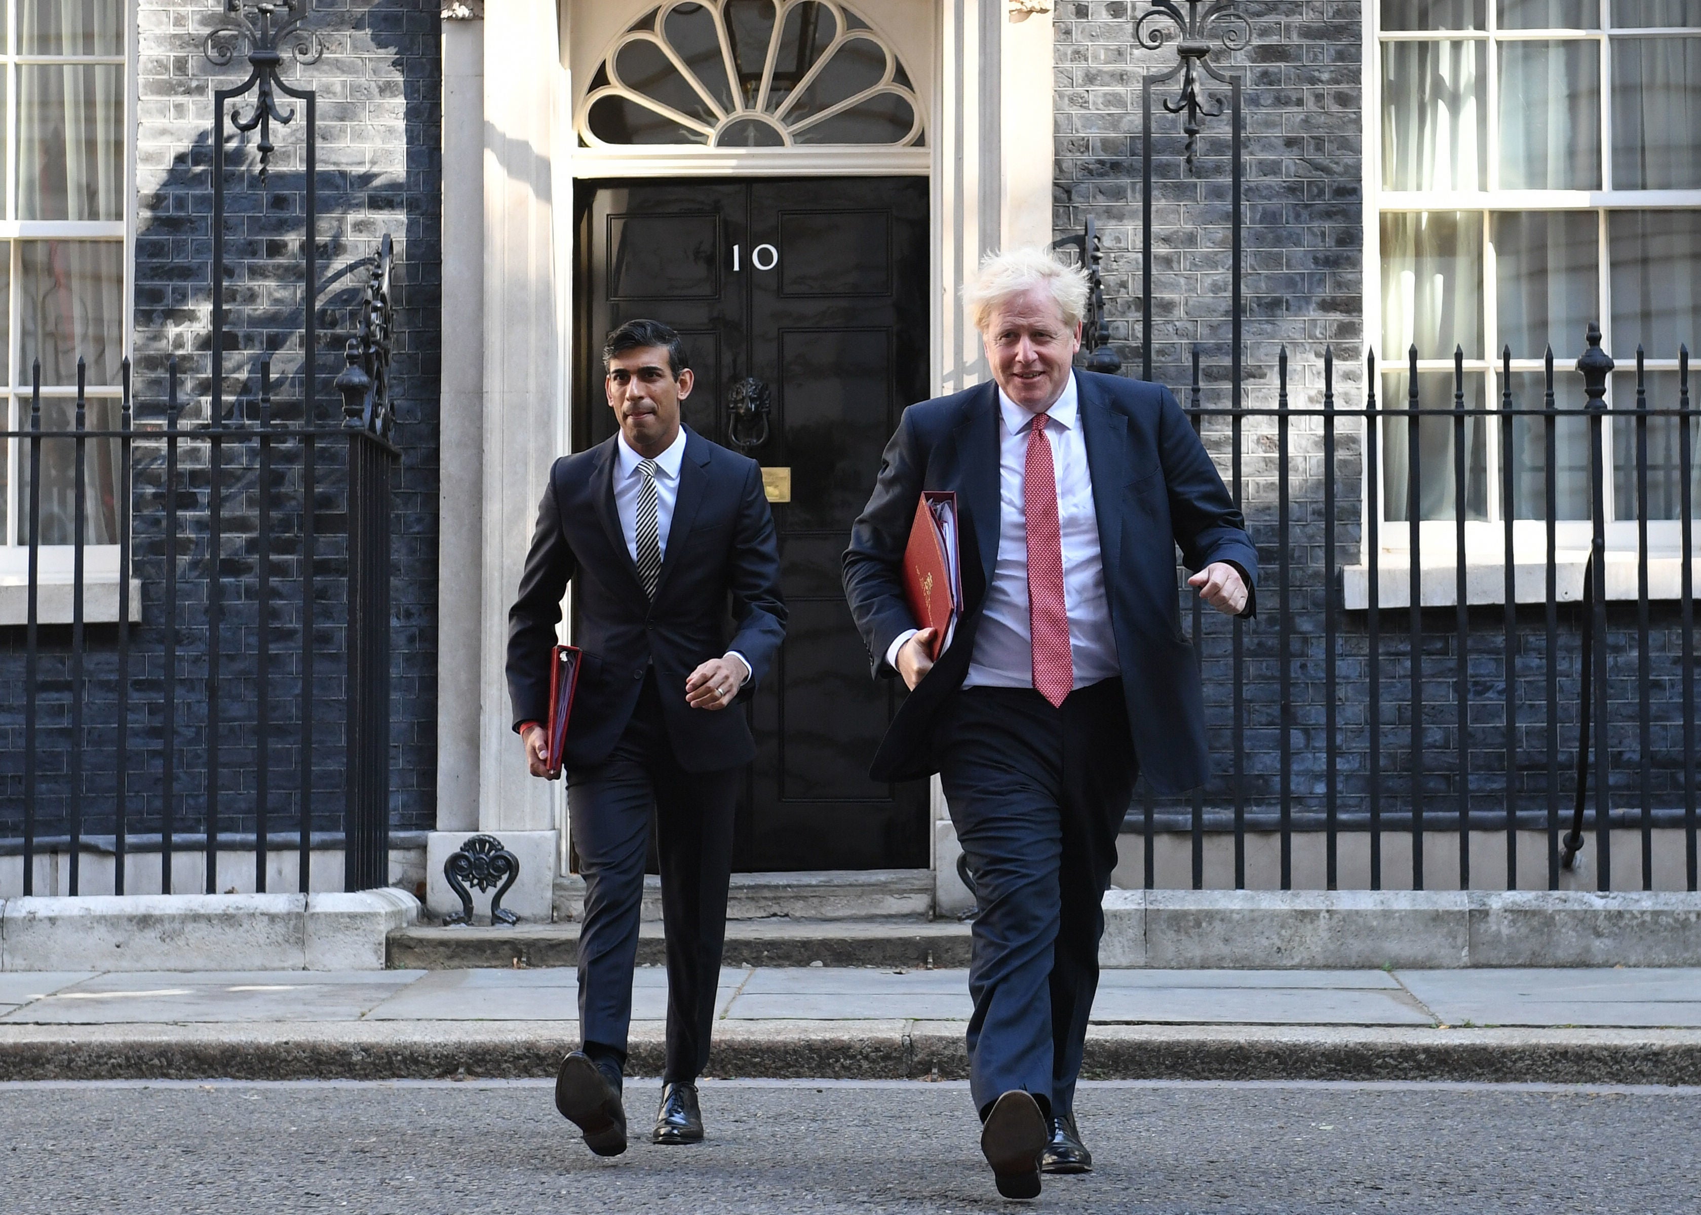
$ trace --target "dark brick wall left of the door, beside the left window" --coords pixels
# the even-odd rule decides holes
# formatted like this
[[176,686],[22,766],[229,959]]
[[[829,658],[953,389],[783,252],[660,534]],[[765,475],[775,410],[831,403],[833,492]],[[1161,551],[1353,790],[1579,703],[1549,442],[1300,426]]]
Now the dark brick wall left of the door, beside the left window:
[[[219,5],[206,0],[138,0],[138,221],[134,250],[134,393],[141,425],[165,414],[168,361],[180,368],[182,424],[206,425],[211,395],[211,209],[213,88],[231,87],[248,71],[238,54],[228,66],[209,63],[202,39]],[[296,65],[286,54],[284,80],[313,88],[318,106],[318,410],[335,425],[340,400],[332,381],[340,352],[359,323],[359,294],[388,233],[395,242],[391,279],[396,306],[393,398],[398,412],[391,579],[391,825],[435,825],[435,604],[437,604],[437,378],[441,299],[441,63],[437,3],[427,0],[318,0],[311,27],[323,56]],[[259,357],[274,357],[270,415],[298,425],[303,419],[303,235],[304,109],[279,97],[293,123],[272,126],[277,153],[265,180],[259,175],[257,133],[226,136],[225,281],[226,354],[225,417],[259,419]],[[252,109],[252,95],[242,111]],[[257,732],[257,584],[259,448],[223,444],[225,531],[218,553],[223,604],[219,630],[221,728],[219,829],[253,830]],[[301,706],[301,444],[274,444],[270,511],[274,538],[269,621],[272,647],[269,825],[294,829],[299,815]],[[167,686],[162,648],[167,638],[163,459],[155,442],[136,453],[136,577],[143,621],[131,636],[133,810],[129,830],[155,832],[162,822],[162,708],[175,703],[179,830],[201,830],[208,788],[208,592],[211,553],[209,449],[185,442],[177,485],[179,659]],[[344,698],[347,621],[345,449],[340,439],[318,444],[315,526],[320,536],[315,645],[320,657],[310,694],[315,704],[313,825],[342,825]],[[7,630],[9,664],[20,664],[24,630]],[[37,830],[63,830],[70,807],[65,776],[70,679],[68,630],[48,630],[37,756],[48,781]],[[85,830],[112,830],[112,727],[117,696],[116,630],[90,630],[87,718],[83,735]],[[10,667],[9,667],[10,669]],[[20,674],[20,670],[19,670]],[[5,693],[0,769],[9,795],[0,836],[20,817],[22,715],[20,681]],[[20,825],[20,824],[17,824]]]

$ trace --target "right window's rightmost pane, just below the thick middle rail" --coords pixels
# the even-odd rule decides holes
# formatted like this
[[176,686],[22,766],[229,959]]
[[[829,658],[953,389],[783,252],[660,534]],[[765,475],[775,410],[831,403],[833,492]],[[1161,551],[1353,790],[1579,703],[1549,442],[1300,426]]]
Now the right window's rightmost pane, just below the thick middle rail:
[[1613,211],[1613,351],[1624,361],[1641,344],[1650,359],[1675,359],[1701,339],[1701,211]]

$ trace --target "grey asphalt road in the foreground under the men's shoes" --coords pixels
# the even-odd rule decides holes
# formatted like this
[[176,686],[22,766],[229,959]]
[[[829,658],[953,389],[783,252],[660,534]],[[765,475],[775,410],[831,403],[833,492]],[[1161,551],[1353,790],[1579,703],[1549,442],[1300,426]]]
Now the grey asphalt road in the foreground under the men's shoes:
[[[628,1082],[629,1111],[657,1084]],[[1099,1169],[1038,1208],[1701,1208],[1701,1089],[1092,1084]],[[961,1084],[725,1082],[709,1142],[594,1159],[538,1082],[0,1084],[0,1212],[975,1212]]]

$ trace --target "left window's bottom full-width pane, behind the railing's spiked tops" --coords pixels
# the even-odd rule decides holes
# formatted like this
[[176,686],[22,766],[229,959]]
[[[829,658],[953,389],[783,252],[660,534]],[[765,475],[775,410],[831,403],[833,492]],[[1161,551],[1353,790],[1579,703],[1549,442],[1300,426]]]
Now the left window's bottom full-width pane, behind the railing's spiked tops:
[[[19,402],[22,429],[29,429],[29,402]],[[119,402],[111,396],[88,400],[85,431],[116,431]],[[66,396],[41,400],[43,431],[77,427],[77,402]],[[19,444],[17,505],[19,543],[29,543],[29,441]],[[117,439],[83,439],[83,541],[117,543]],[[77,439],[41,441],[41,543],[77,543]]]

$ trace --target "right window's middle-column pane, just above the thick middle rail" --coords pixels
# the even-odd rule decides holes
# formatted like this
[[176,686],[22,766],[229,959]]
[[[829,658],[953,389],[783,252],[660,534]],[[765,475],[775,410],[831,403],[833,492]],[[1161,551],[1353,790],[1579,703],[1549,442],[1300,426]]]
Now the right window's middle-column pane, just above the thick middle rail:
[[1500,44],[1500,189],[1601,185],[1601,54],[1594,43]]

